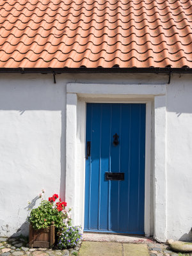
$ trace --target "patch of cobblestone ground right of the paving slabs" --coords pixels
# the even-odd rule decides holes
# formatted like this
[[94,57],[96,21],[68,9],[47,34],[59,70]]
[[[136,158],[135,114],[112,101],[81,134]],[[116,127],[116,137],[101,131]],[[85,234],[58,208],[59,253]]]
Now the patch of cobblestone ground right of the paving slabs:
[[150,256],[192,256],[192,253],[173,252],[166,244],[149,243],[148,252]]

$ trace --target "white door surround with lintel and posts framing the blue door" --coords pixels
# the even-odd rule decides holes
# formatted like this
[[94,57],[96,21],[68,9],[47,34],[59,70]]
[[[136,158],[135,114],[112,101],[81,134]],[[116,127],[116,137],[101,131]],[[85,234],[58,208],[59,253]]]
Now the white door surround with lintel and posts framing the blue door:
[[[160,241],[166,239],[165,93],[166,84],[67,84],[65,200],[72,207],[74,225],[84,226],[86,102],[145,103],[145,236],[150,236],[150,212],[153,211],[154,236]],[[154,140],[155,152],[151,154],[153,103],[154,137],[156,132],[159,136],[157,143]],[[151,170],[156,180],[154,210],[150,207]]]

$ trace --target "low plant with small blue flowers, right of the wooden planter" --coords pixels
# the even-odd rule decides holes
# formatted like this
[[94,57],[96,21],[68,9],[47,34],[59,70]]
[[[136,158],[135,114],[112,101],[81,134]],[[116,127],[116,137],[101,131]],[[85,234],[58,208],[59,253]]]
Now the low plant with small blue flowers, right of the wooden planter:
[[67,249],[74,248],[81,242],[83,234],[81,234],[81,227],[63,228],[62,233],[58,239],[58,248]]

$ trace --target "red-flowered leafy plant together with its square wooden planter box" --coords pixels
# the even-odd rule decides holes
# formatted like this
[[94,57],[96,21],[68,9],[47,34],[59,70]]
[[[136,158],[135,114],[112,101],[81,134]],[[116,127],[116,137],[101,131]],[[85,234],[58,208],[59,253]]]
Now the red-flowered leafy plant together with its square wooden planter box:
[[[42,190],[44,193],[44,190]],[[42,197],[42,194],[40,194]],[[55,234],[61,228],[70,225],[69,211],[65,210],[66,202],[54,194],[49,200],[43,200],[36,209],[32,209],[28,217],[29,225],[29,247],[51,248],[55,243]]]

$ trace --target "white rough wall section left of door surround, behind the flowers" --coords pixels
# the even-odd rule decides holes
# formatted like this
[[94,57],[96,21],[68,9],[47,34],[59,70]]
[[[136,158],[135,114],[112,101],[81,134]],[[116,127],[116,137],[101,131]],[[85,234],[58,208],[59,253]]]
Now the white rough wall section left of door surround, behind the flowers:
[[64,197],[65,106],[64,86],[45,76],[1,75],[0,236],[28,234],[41,189]]

